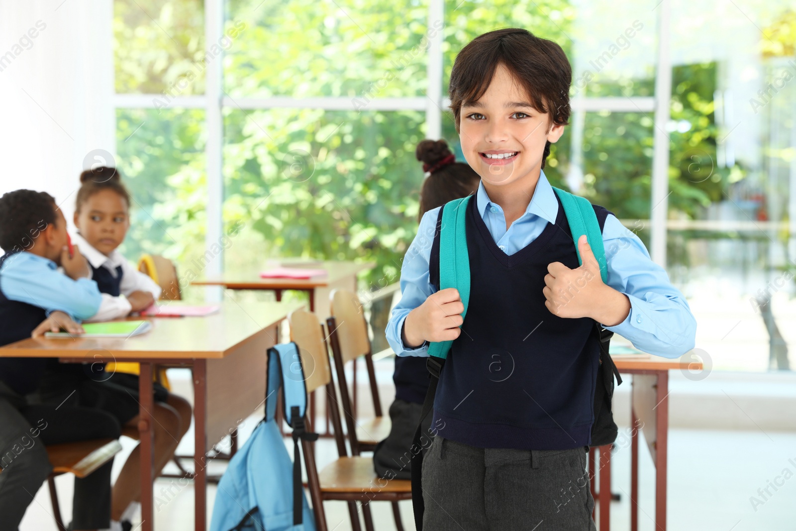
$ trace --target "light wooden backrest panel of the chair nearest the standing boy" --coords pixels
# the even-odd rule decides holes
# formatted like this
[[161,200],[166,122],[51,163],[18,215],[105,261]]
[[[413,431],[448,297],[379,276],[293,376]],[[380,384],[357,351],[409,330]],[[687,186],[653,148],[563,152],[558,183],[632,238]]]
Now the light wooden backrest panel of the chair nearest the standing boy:
[[342,362],[348,363],[357,357],[370,353],[368,322],[365,320],[365,307],[359,302],[356,293],[336,289],[330,294],[330,313],[334,316]]

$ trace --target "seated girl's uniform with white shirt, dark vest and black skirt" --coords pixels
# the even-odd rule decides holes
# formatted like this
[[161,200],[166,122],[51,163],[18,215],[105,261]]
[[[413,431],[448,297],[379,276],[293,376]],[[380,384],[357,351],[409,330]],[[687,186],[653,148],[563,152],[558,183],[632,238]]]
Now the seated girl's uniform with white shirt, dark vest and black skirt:
[[[105,256],[80,234],[72,236],[80,253],[92,268],[92,281],[100,290],[100,307],[87,319],[88,322],[108,321],[130,314],[131,304],[126,299],[133,291],[149,291],[154,299],[161,288],[149,276],[135,270],[117,250]],[[127,424],[139,414],[139,377],[135,374],[106,372],[103,364],[92,365],[93,372],[86,374],[74,370],[55,368],[45,372],[38,397],[46,404],[66,404],[99,408],[115,416],[119,424]],[[154,398],[165,402],[169,392],[154,382]],[[77,390],[77,392],[73,392]]]

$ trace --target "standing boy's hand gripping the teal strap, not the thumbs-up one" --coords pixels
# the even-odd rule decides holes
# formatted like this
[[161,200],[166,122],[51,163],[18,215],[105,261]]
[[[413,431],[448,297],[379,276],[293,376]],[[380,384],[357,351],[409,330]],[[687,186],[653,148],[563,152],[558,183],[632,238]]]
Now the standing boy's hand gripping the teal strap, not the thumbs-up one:
[[462,333],[464,303],[455,287],[429,295],[404,320],[404,345],[416,348],[427,342],[452,341]]

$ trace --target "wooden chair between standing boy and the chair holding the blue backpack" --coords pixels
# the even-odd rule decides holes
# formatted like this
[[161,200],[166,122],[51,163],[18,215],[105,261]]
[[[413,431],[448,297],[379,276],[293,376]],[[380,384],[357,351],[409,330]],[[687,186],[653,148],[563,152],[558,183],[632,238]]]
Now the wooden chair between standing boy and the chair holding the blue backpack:
[[[368,338],[368,322],[363,310],[359,298],[352,291],[338,289],[331,292],[332,316],[326,319],[326,326],[330,330],[329,340],[338,373],[340,400],[353,455],[359,455],[361,451],[373,451],[381,440],[387,438],[392,427],[389,416],[381,413],[373,353]],[[373,419],[361,421],[357,420],[357,360],[360,357],[365,357],[373,412],[376,414]],[[349,395],[348,382],[345,381],[345,364],[349,361],[353,363],[353,396]]]

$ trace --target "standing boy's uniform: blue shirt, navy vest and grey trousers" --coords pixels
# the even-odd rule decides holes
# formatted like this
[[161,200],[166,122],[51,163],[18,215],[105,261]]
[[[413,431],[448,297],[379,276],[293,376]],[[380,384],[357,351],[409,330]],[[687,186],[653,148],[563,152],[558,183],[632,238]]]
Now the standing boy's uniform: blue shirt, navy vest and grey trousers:
[[[590,318],[551,314],[542,292],[548,264],[579,267],[563,206],[540,172],[525,213],[508,229],[483,183],[467,209],[470,302],[435,395],[431,425],[439,436],[423,460],[423,525],[533,529],[544,521],[543,529],[594,529],[583,478],[599,338]],[[608,330],[665,357],[693,349],[696,322],[685,297],[638,236],[594,209],[607,285],[630,299],[628,316]],[[408,313],[439,290],[440,210],[423,215],[401,268],[402,297],[386,330],[399,356],[428,355],[427,344],[405,346],[401,331]]]

